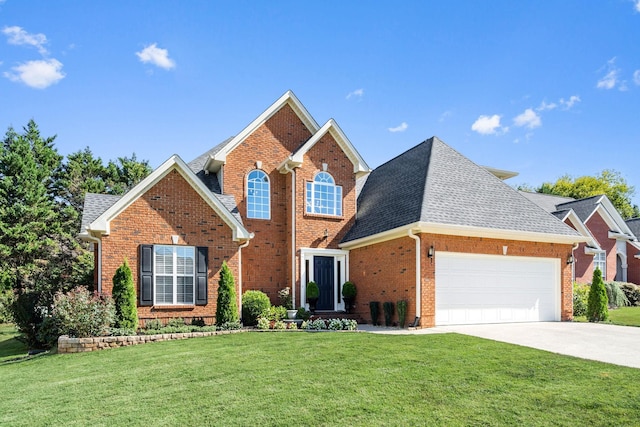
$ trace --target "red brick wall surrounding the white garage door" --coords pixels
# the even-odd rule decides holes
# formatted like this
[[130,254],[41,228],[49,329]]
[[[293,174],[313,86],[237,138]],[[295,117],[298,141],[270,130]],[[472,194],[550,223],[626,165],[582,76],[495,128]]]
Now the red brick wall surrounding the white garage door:
[[[571,266],[566,263],[571,245],[521,242],[476,237],[421,234],[421,326],[435,326],[435,263],[427,257],[430,246],[435,251],[559,258],[561,266],[561,318],[573,318]],[[388,242],[354,249],[349,253],[350,278],[358,288],[357,312],[370,320],[369,301],[409,301],[407,320],[416,315],[415,304],[415,242],[402,237]],[[397,321],[397,315],[395,317]]]

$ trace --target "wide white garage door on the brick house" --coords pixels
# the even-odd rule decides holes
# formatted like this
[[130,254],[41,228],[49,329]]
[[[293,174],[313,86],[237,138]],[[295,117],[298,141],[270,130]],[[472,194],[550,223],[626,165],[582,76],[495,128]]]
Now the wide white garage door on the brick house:
[[560,260],[436,252],[436,325],[560,320]]

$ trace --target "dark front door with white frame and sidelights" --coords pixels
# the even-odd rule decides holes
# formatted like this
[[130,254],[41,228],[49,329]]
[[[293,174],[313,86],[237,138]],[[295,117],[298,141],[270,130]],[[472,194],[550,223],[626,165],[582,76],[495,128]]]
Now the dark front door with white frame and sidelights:
[[316,303],[319,311],[344,310],[342,284],[348,280],[347,251],[340,249],[302,248],[300,250],[300,302],[309,308],[306,300],[307,283],[316,282],[320,297]]

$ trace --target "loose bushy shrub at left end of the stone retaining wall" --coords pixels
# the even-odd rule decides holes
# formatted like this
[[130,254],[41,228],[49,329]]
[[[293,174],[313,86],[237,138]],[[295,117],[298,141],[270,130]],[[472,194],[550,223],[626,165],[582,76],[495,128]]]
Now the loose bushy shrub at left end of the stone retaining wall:
[[60,335],[88,338],[109,334],[116,314],[111,298],[92,295],[78,286],[66,294],[56,293],[53,301],[52,317]]

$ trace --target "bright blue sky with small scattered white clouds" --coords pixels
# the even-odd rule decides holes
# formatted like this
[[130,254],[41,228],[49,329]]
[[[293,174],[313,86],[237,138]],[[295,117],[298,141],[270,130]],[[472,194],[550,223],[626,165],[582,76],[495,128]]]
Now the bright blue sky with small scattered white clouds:
[[436,135],[537,186],[640,204],[640,0],[0,0],[0,127],[189,161],[293,90],[371,167]]

